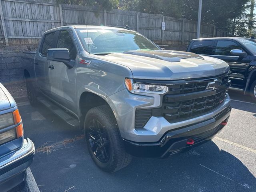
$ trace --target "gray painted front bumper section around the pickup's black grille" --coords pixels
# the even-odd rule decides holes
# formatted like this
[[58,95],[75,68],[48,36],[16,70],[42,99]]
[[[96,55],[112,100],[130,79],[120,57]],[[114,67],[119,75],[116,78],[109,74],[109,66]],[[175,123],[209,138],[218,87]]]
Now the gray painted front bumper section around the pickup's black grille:
[[162,103],[160,95],[137,95],[122,90],[109,96],[106,100],[116,116],[122,138],[132,142],[158,142],[166,132],[212,119],[230,106],[231,101],[229,95],[226,94],[226,99],[217,108],[180,122],[168,122],[162,116],[151,116],[143,128],[136,129],[134,127],[136,109],[158,108]]

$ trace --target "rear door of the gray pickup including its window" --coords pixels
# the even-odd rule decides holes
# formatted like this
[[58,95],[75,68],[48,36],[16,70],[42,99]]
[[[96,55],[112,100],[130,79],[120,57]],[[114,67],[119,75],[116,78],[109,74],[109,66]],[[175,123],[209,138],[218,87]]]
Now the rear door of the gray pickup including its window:
[[35,56],[34,68],[36,73],[36,84],[45,94],[50,94],[50,84],[48,79],[47,50],[54,46],[56,32],[49,32],[42,37],[42,43]]

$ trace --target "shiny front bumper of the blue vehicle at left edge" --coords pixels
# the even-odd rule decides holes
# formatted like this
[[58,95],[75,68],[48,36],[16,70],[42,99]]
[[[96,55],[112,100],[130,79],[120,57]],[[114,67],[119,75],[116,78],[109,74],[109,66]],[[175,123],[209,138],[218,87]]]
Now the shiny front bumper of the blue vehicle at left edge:
[[28,138],[18,150],[0,157],[0,189],[8,191],[25,179],[26,169],[32,163],[35,147]]

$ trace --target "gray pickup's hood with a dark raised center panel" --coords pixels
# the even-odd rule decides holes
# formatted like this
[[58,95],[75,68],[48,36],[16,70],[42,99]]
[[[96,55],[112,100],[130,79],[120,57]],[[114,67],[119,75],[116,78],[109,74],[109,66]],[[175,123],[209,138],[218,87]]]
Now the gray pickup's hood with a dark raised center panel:
[[228,64],[222,60],[181,51],[139,50],[94,57],[127,66],[138,79],[204,78],[229,70]]

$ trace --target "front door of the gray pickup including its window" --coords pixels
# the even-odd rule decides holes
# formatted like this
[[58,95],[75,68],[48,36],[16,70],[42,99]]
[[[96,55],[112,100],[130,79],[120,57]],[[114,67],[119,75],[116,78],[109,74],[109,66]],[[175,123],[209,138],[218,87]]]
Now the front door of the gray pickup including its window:
[[[70,62],[76,62],[77,48],[72,32],[60,30],[56,48],[67,48],[70,52]],[[60,105],[75,111],[75,80],[76,64],[73,68],[68,68],[63,62],[48,61],[49,82],[51,97]]]

